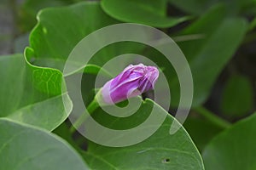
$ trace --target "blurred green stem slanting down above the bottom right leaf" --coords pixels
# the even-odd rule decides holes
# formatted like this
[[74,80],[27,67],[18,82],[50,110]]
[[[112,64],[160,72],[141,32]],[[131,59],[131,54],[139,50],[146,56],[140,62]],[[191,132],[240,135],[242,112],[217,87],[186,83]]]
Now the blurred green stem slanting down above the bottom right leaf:
[[230,125],[231,125],[230,122],[225,121],[224,119],[222,119],[221,117],[215,115],[211,111],[208,111],[204,107],[201,107],[201,106],[200,107],[196,107],[194,110],[197,113],[199,113],[201,116],[204,116],[209,122],[214,123],[218,127],[227,128],[227,127],[230,127]]

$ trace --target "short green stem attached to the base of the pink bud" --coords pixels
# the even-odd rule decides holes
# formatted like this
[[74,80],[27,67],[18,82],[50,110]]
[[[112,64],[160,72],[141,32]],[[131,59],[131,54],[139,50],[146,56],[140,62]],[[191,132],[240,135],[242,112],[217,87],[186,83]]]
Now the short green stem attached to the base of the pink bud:
[[[95,111],[97,108],[99,107],[99,104],[97,102],[96,99],[93,99],[92,102],[90,103],[90,105],[88,105],[88,107],[86,108],[86,110],[89,112],[89,114],[92,114],[93,111]],[[74,133],[76,131],[77,128],[79,128],[84,121],[86,121],[88,117],[87,113],[82,114],[81,116],[79,116],[79,118],[76,120],[76,122],[73,123],[73,126],[70,127],[69,131],[70,133]]]

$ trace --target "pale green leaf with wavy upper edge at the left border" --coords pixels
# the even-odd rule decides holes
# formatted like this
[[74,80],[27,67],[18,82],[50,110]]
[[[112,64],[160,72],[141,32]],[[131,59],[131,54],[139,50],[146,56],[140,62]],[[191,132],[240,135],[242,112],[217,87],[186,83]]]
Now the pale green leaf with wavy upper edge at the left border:
[[60,71],[29,65],[22,54],[2,56],[0,70],[0,116],[48,130],[67,118],[72,102],[61,94]]

